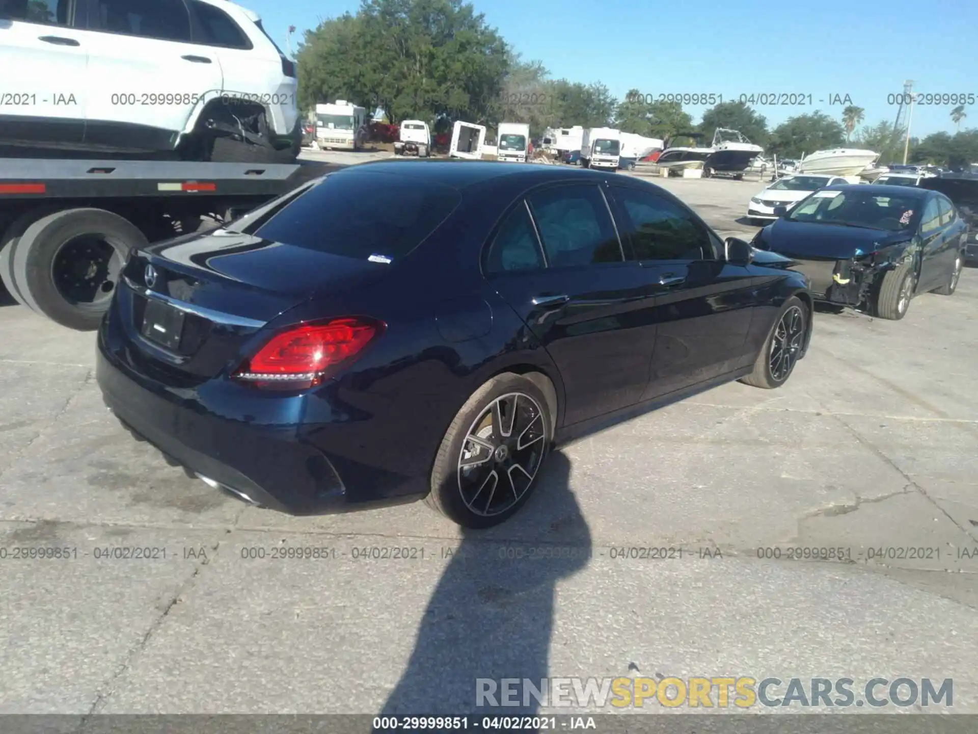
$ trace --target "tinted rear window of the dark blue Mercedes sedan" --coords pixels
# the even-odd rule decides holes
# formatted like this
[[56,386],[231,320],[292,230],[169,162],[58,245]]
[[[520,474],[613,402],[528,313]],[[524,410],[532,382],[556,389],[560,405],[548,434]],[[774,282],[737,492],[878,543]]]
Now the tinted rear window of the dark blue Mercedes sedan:
[[367,171],[333,174],[248,234],[393,262],[418,247],[460,202],[455,189],[417,178]]

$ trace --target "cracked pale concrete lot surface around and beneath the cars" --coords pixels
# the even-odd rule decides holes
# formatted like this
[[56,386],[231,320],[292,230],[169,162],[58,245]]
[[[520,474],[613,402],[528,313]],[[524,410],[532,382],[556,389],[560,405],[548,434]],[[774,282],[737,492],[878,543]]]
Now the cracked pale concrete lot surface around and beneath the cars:
[[[756,231],[763,183],[650,180]],[[94,335],[3,302],[0,712],[449,713],[476,678],[618,675],[953,678],[978,712],[978,269],[902,321],[818,313],[781,390],[564,445],[483,532],[188,479],[103,406]]]

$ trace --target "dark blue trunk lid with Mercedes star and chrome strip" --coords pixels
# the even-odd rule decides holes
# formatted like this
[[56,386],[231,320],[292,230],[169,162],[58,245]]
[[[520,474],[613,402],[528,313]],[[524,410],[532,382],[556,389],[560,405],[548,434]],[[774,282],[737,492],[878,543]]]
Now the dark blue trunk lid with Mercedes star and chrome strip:
[[130,257],[117,295],[130,362],[170,385],[201,382],[235,367],[289,309],[387,272],[389,265],[239,233],[151,246]]

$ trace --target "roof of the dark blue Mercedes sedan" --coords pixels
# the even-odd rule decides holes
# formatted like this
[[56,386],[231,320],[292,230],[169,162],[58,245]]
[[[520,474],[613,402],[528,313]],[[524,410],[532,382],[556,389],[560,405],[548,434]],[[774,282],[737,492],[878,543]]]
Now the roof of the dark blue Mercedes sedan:
[[598,171],[542,163],[459,160],[372,161],[341,168],[331,175],[356,176],[376,173],[410,176],[460,190],[500,179],[509,179],[509,183],[518,187],[534,186],[549,181],[601,181],[606,175]]

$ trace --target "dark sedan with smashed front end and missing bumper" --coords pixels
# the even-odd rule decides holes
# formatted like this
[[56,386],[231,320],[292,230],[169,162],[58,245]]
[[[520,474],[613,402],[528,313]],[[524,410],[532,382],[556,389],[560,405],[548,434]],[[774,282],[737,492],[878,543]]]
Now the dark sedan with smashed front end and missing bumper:
[[794,259],[822,301],[897,320],[914,296],[957,288],[967,226],[943,194],[837,185],[776,213],[751,244]]

